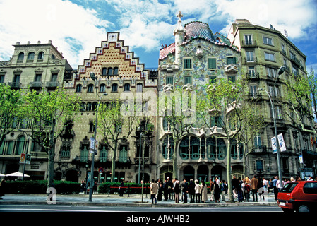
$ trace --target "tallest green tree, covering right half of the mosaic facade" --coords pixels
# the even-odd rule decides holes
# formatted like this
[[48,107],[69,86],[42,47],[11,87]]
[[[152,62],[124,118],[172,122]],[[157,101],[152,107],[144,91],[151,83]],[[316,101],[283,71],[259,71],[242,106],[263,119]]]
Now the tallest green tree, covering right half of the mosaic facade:
[[[217,83],[209,85],[205,90],[207,90],[205,98],[198,100],[198,117],[212,136],[227,140],[228,193],[230,201],[233,202],[230,179],[232,174],[231,148],[250,116],[250,108],[243,101],[247,90],[246,80],[239,78],[234,83],[226,78],[220,78]],[[239,145],[239,143],[237,144]]]

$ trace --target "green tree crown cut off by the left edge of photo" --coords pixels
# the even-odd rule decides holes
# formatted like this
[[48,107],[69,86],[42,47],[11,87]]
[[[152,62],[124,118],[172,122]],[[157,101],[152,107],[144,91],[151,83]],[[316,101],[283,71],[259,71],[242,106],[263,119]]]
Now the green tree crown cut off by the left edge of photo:
[[0,147],[6,135],[25,119],[21,105],[23,105],[23,97],[20,91],[0,83]]

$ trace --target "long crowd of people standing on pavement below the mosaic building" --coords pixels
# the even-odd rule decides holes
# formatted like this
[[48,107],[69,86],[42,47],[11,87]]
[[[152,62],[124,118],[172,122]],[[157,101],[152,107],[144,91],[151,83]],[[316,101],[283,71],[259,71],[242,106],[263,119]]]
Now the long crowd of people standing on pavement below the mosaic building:
[[[245,177],[232,178],[232,194],[234,198],[237,198],[239,202],[257,202],[258,198],[261,201],[261,198],[265,200],[265,195],[268,192],[273,192],[275,200],[277,200],[277,194],[280,189],[289,182],[299,181],[300,177],[294,179],[290,177],[289,179],[283,179],[282,184],[278,177],[272,179],[265,179],[263,177],[258,177],[254,175],[251,179]],[[312,177],[309,177],[308,180],[313,180]],[[315,179],[317,180],[317,178]],[[215,179],[210,179],[210,186],[207,186],[204,180],[200,182],[196,179],[190,179],[187,182],[186,179],[179,181],[177,178],[170,179],[167,177],[164,182],[158,179],[155,181],[152,179],[150,183],[150,194],[153,204],[156,204],[157,201],[167,201],[174,200],[175,203],[205,203],[208,200],[208,191],[210,192],[210,201],[215,201],[219,203],[220,201],[226,201],[226,195],[228,194],[228,184],[225,180],[220,181],[218,177]],[[209,189],[209,190],[208,190]]]

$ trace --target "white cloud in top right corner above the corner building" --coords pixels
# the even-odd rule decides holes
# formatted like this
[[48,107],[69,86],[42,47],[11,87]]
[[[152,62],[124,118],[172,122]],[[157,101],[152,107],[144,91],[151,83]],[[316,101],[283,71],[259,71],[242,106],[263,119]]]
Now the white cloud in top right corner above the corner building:
[[316,25],[315,0],[224,0],[217,1],[217,12],[227,26],[222,32],[227,34],[229,26],[235,19],[248,19],[251,23],[276,30],[289,37],[304,37],[306,28]]

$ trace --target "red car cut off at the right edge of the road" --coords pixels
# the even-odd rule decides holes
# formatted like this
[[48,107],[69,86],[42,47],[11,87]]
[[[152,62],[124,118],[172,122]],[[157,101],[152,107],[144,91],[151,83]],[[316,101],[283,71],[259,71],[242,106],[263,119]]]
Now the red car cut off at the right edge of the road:
[[277,195],[277,203],[284,212],[317,210],[317,181],[289,182]]

